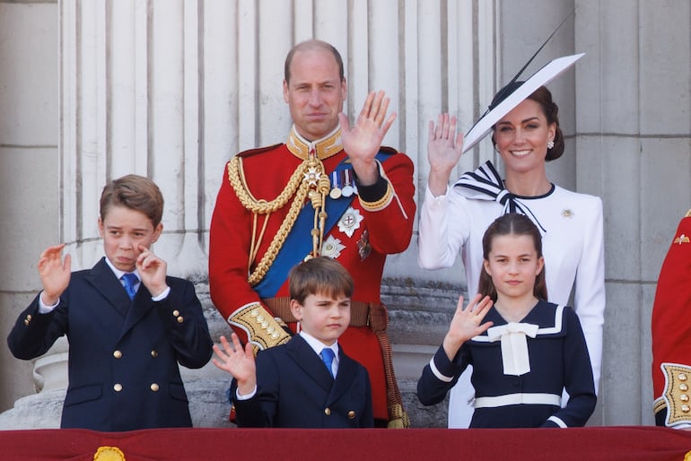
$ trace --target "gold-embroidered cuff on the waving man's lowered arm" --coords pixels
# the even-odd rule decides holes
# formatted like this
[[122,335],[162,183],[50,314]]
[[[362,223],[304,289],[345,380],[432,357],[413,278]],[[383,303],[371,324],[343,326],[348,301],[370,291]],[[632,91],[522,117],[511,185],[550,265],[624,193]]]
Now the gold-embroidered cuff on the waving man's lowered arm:
[[247,332],[249,343],[255,346],[255,353],[291,339],[271,313],[258,302],[249,304],[232,313],[228,323]]

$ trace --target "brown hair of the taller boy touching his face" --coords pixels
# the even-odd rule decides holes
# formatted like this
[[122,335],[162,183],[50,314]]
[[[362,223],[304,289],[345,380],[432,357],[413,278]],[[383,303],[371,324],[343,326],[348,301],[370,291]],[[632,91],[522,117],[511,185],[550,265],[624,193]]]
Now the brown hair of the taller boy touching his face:
[[111,206],[125,206],[144,213],[153,223],[159,225],[163,216],[161,189],[149,178],[127,175],[113,179],[101,192],[101,221],[105,221]]

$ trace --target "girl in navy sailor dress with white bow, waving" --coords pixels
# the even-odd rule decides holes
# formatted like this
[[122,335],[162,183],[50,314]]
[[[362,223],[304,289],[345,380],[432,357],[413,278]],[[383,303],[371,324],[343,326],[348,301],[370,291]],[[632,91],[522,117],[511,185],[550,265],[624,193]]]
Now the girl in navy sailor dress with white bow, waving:
[[[477,296],[456,313],[417,383],[425,405],[442,402],[468,365],[476,389],[471,428],[583,426],[597,397],[581,324],[547,302],[538,228],[507,213],[483,237]],[[562,407],[562,391],[570,398]]]

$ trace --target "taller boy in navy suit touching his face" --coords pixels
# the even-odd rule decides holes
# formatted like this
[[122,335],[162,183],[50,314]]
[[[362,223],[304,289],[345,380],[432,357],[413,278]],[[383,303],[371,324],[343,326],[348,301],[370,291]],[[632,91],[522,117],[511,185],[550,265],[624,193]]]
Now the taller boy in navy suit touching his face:
[[162,213],[163,197],[152,180],[113,180],[101,194],[105,257],[74,274],[70,256],[62,258],[65,244],[39,258],[43,291],[7,343],[15,357],[29,360],[67,335],[62,428],[192,426],[178,363],[203,367],[213,342],[194,285],[166,276],[166,262],[151,250],[163,230]]

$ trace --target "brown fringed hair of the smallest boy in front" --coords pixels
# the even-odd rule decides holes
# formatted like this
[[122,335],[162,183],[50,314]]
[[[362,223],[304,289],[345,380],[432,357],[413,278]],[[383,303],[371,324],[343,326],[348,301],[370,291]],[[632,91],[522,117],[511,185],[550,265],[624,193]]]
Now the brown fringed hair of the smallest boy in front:
[[288,273],[290,297],[301,305],[311,294],[328,294],[336,299],[339,295],[353,296],[353,277],[346,268],[330,257],[312,257],[293,266]]

